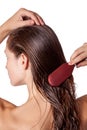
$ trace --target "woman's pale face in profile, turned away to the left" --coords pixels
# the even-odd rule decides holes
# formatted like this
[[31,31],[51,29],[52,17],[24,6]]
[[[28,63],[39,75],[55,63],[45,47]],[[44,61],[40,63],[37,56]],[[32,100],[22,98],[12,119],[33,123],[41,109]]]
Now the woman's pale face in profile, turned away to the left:
[[7,48],[7,46],[5,54],[7,57],[6,69],[8,71],[11,84],[13,86],[25,84],[25,69],[22,56],[20,55],[17,58],[15,54]]

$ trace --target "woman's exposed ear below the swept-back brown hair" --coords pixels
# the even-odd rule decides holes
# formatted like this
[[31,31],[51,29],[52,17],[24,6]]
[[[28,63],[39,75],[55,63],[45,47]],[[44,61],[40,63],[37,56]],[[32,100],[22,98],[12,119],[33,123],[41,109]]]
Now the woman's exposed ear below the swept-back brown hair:
[[22,53],[20,55],[18,61],[19,61],[19,64],[21,65],[21,67],[23,69],[27,69],[28,68],[28,66],[29,66],[29,59],[27,58],[27,56],[24,53]]

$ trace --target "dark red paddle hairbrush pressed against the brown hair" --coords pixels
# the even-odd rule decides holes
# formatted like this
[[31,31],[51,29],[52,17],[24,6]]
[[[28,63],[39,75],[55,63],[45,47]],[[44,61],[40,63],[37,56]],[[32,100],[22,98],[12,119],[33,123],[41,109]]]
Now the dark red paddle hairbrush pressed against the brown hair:
[[72,75],[73,69],[74,65],[62,64],[48,76],[49,84],[51,86],[59,86]]

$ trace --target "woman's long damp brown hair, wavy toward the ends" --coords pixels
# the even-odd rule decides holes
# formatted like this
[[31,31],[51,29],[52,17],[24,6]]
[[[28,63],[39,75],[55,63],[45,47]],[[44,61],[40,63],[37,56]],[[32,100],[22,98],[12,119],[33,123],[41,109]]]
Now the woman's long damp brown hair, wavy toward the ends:
[[29,58],[34,83],[51,104],[53,129],[78,130],[79,115],[73,76],[57,87],[48,83],[49,74],[66,62],[54,31],[47,25],[21,27],[10,34],[7,45],[16,57],[24,53]]

